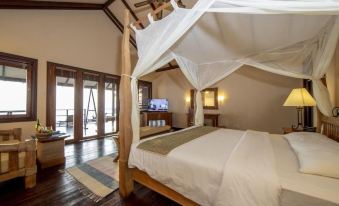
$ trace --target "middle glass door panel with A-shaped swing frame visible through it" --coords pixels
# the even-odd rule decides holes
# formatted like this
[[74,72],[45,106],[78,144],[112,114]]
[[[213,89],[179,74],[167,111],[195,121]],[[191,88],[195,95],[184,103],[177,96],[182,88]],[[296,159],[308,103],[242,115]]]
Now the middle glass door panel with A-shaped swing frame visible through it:
[[98,75],[83,74],[83,136],[98,135]]

